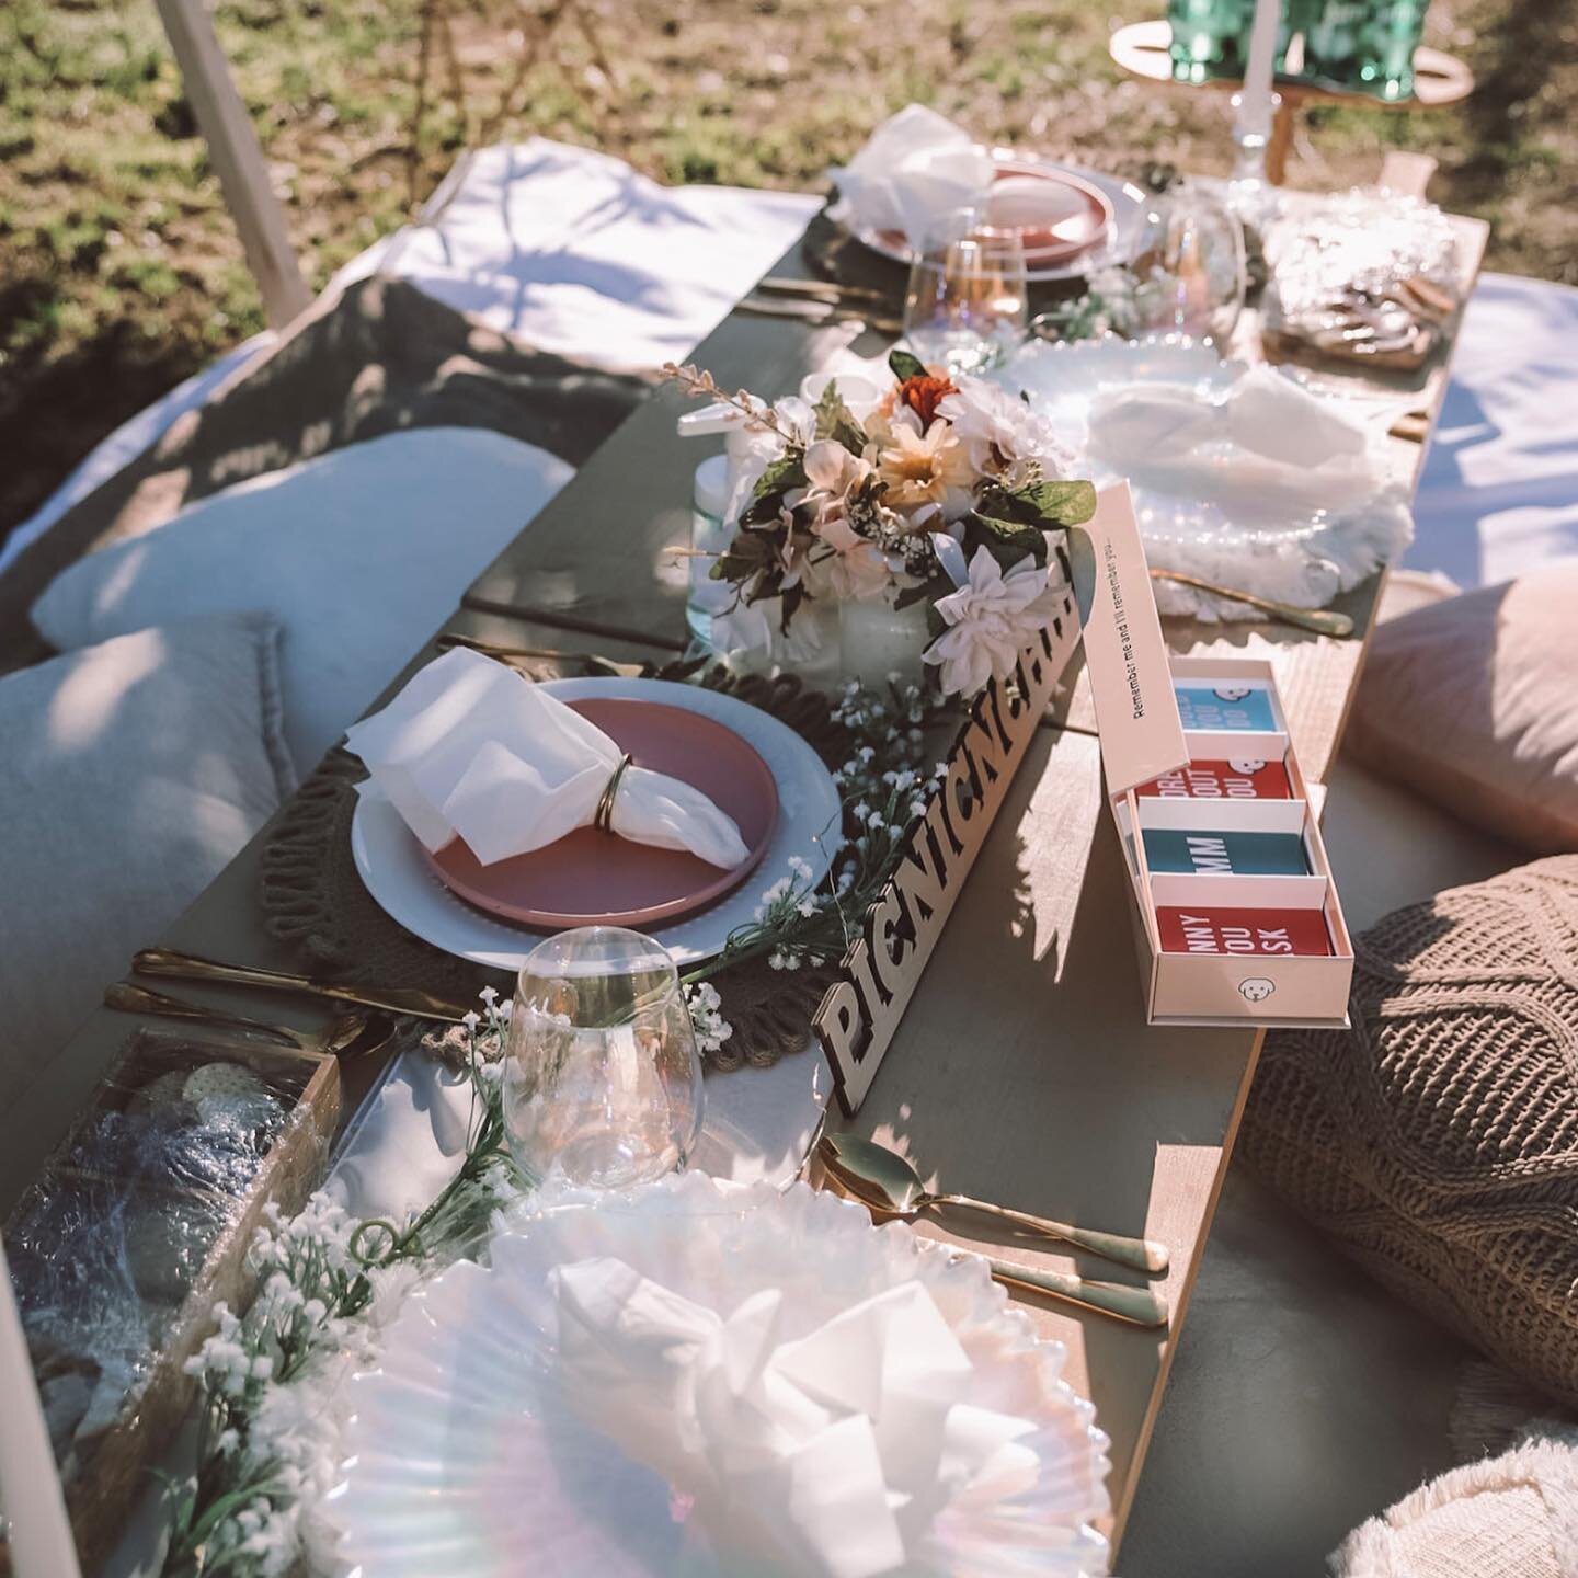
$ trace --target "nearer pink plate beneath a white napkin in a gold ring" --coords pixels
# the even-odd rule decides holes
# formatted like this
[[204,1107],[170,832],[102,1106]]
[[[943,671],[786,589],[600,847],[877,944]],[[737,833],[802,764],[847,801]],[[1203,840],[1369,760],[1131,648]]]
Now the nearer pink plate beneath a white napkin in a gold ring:
[[666,702],[570,702],[628,751],[638,767],[682,778],[734,817],[750,855],[720,871],[680,849],[653,849],[579,827],[525,855],[484,866],[459,838],[428,860],[453,893],[478,909],[559,931],[565,926],[649,926],[705,909],[761,863],[778,822],[778,786],[732,729]]

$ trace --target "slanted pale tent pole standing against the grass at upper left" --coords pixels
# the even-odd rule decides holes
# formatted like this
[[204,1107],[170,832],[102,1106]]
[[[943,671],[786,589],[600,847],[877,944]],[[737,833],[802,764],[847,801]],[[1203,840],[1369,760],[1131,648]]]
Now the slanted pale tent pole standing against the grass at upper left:
[[197,126],[219,174],[224,200],[241,232],[246,262],[275,328],[289,323],[312,301],[290,248],[284,211],[268,185],[268,166],[251,117],[230,80],[230,68],[215,36],[204,0],[156,0],[170,49],[186,79]]

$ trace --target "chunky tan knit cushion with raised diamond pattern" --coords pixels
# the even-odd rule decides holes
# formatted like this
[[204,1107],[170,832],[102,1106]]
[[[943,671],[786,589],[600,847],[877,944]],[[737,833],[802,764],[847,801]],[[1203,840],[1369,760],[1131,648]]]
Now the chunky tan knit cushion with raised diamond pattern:
[[1378,1280],[1578,1404],[1578,855],[1356,942],[1352,1030],[1272,1030],[1239,1149]]

